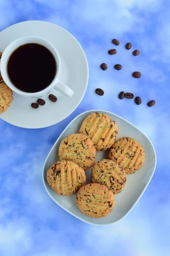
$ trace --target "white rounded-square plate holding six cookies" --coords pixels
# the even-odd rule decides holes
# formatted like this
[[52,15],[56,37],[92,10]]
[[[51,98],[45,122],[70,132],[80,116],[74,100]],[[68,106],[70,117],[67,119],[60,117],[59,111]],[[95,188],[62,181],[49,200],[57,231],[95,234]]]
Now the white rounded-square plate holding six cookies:
[[[87,215],[84,215],[77,207],[76,203],[76,196],[77,193],[70,196],[62,196],[57,195],[51,188],[48,186],[46,180],[46,172],[49,167],[54,164],[57,160],[59,160],[58,149],[59,144],[62,139],[64,139],[69,134],[79,133],[79,128],[82,124],[82,121],[88,116],[90,113],[93,112],[100,112],[105,113],[108,116],[111,116],[112,120],[116,121],[116,124],[119,128],[119,134],[117,139],[120,137],[132,137],[133,139],[139,141],[142,146],[144,147],[145,151],[145,161],[144,165],[139,171],[136,171],[135,174],[127,175],[127,182],[125,189],[117,195],[115,195],[115,207],[113,211],[104,218],[91,218]],[[108,151],[96,151],[97,157],[96,161],[101,159],[107,158]],[[117,221],[120,221],[124,218],[136,203],[141,198],[142,194],[144,193],[145,189],[147,188],[150,180],[153,176],[153,173],[156,168],[156,152],[155,149],[147,138],[147,136],[140,131],[136,126],[132,125],[130,122],[126,121],[120,116],[117,116],[111,112],[104,111],[104,110],[91,110],[86,111],[76,118],[65,128],[62,134],[59,136],[58,140],[51,148],[43,167],[43,182],[45,189],[48,195],[58,204],[60,207],[65,209],[65,211],[69,212],[70,214],[74,215],[75,217],[79,218],[82,221],[85,221],[90,224],[94,225],[108,225],[113,224]],[[90,183],[90,176],[91,176],[91,169],[85,171],[87,181],[86,183]]]

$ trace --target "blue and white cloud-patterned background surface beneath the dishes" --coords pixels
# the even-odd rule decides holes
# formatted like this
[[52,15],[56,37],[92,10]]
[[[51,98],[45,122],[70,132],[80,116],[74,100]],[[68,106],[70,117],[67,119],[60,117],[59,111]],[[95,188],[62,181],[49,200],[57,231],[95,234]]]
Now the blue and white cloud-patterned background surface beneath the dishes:
[[[170,255],[170,1],[0,0],[0,30],[24,20],[46,20],[71,32],[89,64],[85,97],[74,113],[49,128],[27,130],[0,119],[0,256]],[[56,35],[57,36],[57,35]],[[119,39],[117,55],[108,55]],[[125,51],[127,42],[141,54]],[[110,68],[102,71],[106,62]],[[113,64],[122,64],[122,71]],[[131,72],[139,70],[141,79]],[[137,81],[136,81],[137,80]],[[102,97],[94,93],[101,87]],[[117,98],[121,91],[142,105]],[[156,100],[153,108],[147,102]],[[44,160],[62,130],[79,113],[104,109],[139,127],[153,142],[156,171],[130,214],[107,227],[85,224],[47,195]]]

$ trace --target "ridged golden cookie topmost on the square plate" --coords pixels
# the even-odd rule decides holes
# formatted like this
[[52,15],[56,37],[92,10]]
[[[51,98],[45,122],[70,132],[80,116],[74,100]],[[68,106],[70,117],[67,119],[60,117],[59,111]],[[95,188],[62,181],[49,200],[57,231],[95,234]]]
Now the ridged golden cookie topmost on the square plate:
[[115,142],[118,128],[115,121],[111,121],[110,116],[96,112],[85,118],[79,133],[91,138],[96,150],[105,151]]

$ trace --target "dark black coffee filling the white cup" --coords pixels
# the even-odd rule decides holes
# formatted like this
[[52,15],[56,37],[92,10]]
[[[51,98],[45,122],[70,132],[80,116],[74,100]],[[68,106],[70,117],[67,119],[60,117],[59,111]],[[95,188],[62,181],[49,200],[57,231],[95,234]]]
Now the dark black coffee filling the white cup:
[[24,44],[18,47],[7,64],[12,84],[27,93],[36,93],[48,87],[56,71],[53,54],[40,44]]

